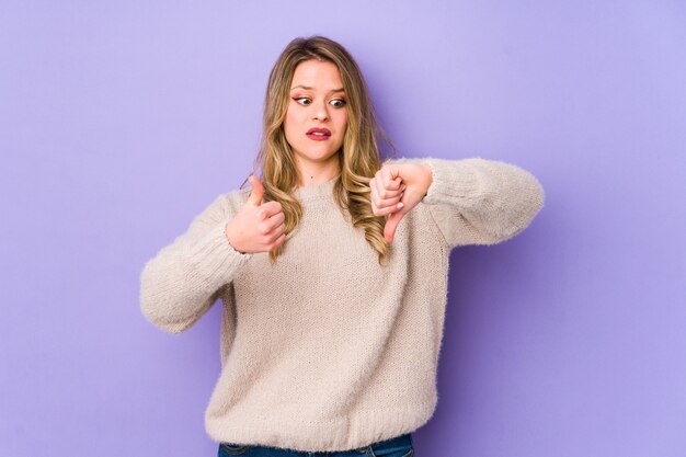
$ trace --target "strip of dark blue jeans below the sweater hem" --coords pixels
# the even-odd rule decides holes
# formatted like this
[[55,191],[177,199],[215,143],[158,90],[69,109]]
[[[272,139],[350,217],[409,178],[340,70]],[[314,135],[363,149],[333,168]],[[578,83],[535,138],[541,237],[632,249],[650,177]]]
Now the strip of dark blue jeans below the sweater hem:
[[319,453],[297,452],[278,447],[220,443],[218,457],[413,457],[412,434],[373,443],[351,450]]

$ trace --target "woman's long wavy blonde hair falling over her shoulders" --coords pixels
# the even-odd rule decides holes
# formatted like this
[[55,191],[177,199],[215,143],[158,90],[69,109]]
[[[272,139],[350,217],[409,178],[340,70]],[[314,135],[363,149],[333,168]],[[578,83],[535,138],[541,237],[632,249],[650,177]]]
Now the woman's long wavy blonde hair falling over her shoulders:
[[[392,144],[376,121],[359,67],[336,42],[323,36],[296,38],[274,64],[264,99],[262,144],[253,174],[259,165],[262,170],[264,199],[281,203],[286,233],[290,233],[302,217],[302,206],[293,196],[298,187],[298,170],[286,140],[284,119],[296,67],[312,59],[334,64],[345,91],[347,128],[343,146],[338,152],[341,174],[333,187],[335,202],[341,210],[347,210],[353,226],[364,230],[365,239],[377,252],[378,263],[382,264],[390,254],[390,244],[384,238],[386,217],[371,213],[369,181],[381,165],[377,135],[391,148]],[[287,242],[270,251],[272,263],[282,254]]]

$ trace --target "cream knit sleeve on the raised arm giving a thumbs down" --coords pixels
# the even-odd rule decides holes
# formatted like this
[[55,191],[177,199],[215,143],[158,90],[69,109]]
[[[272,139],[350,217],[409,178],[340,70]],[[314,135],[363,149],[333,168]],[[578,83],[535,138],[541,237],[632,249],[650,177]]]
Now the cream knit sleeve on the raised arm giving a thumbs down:
[[450,248],[505,241],[528,227],[544,206],[538,180],[514,164],[481,158],[396,161],[431,168],[422,203]]

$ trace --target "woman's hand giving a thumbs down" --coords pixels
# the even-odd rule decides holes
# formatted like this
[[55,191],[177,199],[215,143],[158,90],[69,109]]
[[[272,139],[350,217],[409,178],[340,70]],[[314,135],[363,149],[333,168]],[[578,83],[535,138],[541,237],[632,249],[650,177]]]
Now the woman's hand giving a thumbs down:
[[384,226],[386,241],[393,241],[400,219],[426,195],[432,182],[431,169],[421,163],[389,163],[369,181],[371,212],[390,215]]

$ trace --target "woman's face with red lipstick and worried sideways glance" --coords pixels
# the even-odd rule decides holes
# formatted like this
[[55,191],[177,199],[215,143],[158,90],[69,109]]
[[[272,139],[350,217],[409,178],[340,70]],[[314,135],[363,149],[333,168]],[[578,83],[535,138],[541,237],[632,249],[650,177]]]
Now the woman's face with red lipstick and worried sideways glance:
[[284,132],[301,175],[338,169],[336,152],[347,127],[345,104],[341,73],[334,64],[306,60],[296,67]]

